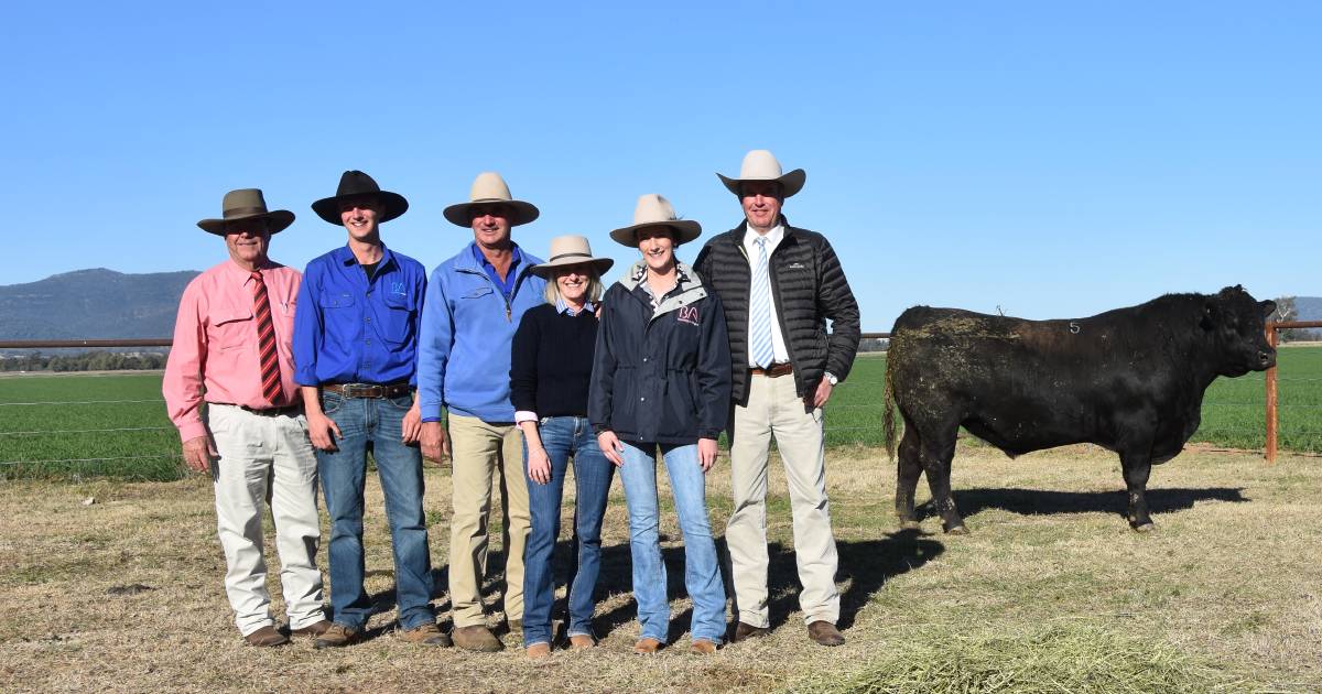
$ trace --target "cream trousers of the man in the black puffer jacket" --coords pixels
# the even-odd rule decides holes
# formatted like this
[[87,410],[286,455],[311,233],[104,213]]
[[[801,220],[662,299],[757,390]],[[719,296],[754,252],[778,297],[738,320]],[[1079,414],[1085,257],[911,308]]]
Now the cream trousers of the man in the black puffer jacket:
[[804,621],[839,619],[836,538],[826,500],[822,411],[804,411],[792,375],[748,377],[748,406],[735,407],[730,439],[734,514],[726,525],[731,579],[739,621],[768,627],[767,613],[767,457],[776,438],[795,517],[798,607]]

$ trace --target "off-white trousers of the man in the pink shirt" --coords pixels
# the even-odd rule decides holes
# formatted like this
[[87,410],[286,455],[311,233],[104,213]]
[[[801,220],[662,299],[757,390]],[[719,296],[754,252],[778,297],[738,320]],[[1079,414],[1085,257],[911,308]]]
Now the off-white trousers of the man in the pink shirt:
[[272,627],[266,590],[262,517],[267,506],[280,553],[280,586],[291,629],[325,619],[317,545],[317,459],[303,415],[263,416],[233,405],[209,405],[206,424],[219,459],[215,526],[225,550],[225,592],[234,624],[247,636]]

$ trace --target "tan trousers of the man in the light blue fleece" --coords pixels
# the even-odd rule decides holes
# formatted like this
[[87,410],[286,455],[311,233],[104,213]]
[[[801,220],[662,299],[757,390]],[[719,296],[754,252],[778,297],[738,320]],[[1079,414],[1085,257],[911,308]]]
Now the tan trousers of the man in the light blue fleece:
[[492,481],[500,477],[501,546],[505,549],[505,619],[524,619],[524,547],[531,527],[524,435],[513,423],[490,424],[449,415],[455,517],[449,521],[449,604],[455,627],[486,624],[481,587],[486,576],[486,520]]

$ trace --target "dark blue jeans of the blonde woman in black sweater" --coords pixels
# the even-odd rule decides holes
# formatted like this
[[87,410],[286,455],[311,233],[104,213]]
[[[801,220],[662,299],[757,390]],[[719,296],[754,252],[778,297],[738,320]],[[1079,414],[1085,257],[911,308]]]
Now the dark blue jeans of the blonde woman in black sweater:
[[[570,576],[570,636],[594,636],[592,591],[602,567],[602,517],[611,493],[615,465],[602,455],[586,416],[549,416],[538,427],[542,447],[551,459],[551,480],[527,479],[533,531],[524,553],[524,646],[551,642],[551,605],[555,584],[551,555],[561,534],[561,498],[570,456],[574,456],[574,555]],[[527,475],[527,442],[524,442],[524,475]]]

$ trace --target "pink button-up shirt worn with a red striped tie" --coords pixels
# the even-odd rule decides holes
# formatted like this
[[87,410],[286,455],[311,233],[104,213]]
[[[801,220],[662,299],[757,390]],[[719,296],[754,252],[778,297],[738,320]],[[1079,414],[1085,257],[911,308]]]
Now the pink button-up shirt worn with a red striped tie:
[[188,284],[178,301],[175,346],[161,383],[165,408],[178,427],[180,439],[206,435],[200,411],[204,399],[254,408],[299,402],[291,344],[293,304],[301,280],[303,275],[291,267],[271,263],[262,268],[280,361],[283,399],[275,403],[262,395],[251,274],[234,260],[225,260]]

